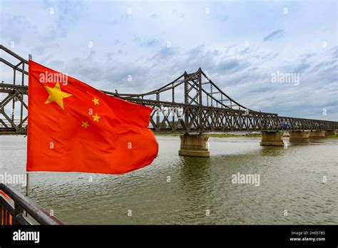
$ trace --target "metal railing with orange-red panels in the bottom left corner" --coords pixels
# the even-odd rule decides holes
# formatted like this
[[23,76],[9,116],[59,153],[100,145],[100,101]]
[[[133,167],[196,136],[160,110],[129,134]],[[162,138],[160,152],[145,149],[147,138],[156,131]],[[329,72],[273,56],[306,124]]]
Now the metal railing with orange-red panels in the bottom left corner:
[[0,224],[36,224],[24,215],[25,212],[39,224],[63,224],[14,187],[0,183]]

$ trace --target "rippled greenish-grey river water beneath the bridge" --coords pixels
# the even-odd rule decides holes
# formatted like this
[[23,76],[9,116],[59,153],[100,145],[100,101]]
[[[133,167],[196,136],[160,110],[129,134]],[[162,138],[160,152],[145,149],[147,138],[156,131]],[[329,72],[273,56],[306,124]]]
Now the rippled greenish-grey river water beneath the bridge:
[[[198,158],[178,156],[178,136],[156,138],[148,167],[32,172],[30,197],[66,224],[338,224],[338,139],[272,148],[210,138],[210,158]],[[26,138],[0,136],[0,174],[26,173],[25,164]],[[232,183],[237,173],[259,175],[259,186]]]

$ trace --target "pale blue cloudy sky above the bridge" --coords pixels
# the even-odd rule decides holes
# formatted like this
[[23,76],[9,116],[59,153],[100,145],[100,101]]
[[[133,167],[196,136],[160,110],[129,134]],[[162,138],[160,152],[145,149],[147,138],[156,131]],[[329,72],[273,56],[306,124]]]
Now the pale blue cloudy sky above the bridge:
[[247,108],[338,120],[337,1],[0,3],[1,44],[93,87],[152,91],[201,67]]

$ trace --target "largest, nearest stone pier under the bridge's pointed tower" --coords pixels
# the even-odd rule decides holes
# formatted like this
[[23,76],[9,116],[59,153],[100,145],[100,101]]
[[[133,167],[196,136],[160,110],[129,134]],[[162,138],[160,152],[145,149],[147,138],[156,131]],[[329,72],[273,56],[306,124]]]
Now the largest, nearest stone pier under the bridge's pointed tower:
[[178,155],[190,157],[210,157],[208,150],[208,135],[185,135],[180,136],[180,150]]

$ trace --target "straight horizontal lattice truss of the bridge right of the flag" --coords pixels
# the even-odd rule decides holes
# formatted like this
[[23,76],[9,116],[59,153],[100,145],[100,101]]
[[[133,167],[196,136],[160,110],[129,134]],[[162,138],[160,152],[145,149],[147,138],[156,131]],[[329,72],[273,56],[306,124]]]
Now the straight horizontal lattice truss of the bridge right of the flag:
[[274,113],[187,105],[142,98],[123,98],[153,108],[150,129],[157,131],[217,132],[263,130],[335,130],[327,120],[281,117]]

